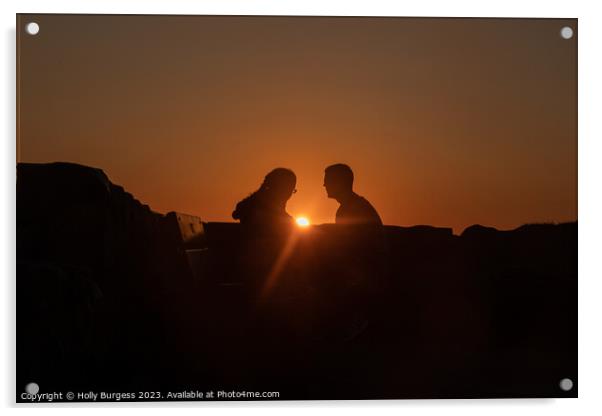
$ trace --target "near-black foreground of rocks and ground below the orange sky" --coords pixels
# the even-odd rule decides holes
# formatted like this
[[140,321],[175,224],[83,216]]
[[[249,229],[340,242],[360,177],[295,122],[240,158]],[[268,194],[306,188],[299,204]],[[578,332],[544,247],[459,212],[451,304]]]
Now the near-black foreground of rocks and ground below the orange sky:
[[92,168],[17,175],[17,401],[30,382],[58,401],[577,397],[577,223],[260,232],[154,213]]

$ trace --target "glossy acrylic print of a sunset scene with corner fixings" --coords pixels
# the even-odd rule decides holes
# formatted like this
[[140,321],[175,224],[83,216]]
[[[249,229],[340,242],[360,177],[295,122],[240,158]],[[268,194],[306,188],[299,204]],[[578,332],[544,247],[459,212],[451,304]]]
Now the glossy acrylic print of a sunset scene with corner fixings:
[[17,15],[16,400],[577,397],[577,35]]

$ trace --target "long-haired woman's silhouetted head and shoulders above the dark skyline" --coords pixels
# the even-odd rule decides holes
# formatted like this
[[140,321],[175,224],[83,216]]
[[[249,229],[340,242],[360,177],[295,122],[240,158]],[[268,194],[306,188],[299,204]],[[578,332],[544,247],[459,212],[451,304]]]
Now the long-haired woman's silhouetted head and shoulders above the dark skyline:
[[241,224],[261,227],[292,224],[294,220],[286,212],[286,202],[296,192],[296,183],[292,170],[272,170],[257,191],[236,204],[232,218]]

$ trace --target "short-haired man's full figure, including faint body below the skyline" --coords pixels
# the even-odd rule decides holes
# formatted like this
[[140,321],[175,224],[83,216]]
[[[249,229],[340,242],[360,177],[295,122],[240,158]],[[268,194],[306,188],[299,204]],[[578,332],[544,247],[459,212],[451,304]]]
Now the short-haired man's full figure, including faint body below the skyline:
[[353,171],[349,166],[328,166],[324,187],[328,197],[341,204],[336,224],[366,226],[340,227],[328,250],[328,267],[333,277],[329,281],[334,284],[326,295],[326,332],[344,342],[359,337],[369,339],[370,321],[377,317],[385,281],[383,223],[372,204],[353,192]]

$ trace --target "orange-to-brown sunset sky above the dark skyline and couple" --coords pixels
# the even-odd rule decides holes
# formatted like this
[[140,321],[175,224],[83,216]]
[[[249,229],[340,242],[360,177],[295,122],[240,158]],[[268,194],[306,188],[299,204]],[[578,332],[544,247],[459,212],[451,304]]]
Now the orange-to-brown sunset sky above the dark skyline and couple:
[[[24,25],[40,24],[36,36]],[[576,19],[18,16],[17,160],[103,169],[231,221],[275,167],[333,222],[349,164],[386,224],[577,219]]]

